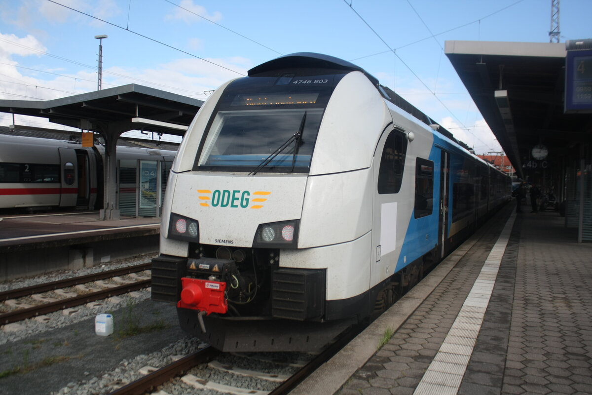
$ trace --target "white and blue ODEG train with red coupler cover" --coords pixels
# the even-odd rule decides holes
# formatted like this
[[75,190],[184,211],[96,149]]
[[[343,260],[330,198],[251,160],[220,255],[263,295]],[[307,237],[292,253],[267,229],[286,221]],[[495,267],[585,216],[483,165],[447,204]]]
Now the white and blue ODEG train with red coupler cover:
[[436,129],[321,54],[220,86],[173,163],[153,300],[224,351],[316,349],[375,317],[509,200],[506,176]]

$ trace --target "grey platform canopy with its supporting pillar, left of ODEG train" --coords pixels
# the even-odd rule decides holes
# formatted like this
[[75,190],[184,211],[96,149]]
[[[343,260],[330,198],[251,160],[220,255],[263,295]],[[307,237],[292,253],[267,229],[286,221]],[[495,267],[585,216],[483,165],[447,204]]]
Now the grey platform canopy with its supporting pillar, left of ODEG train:
[[0,112],[31,115],[81,130],[105,141],[105,192],[102,219],[118,219],[115,180],[117,139],[130,130],[183,136],[203,101],[130,84],[47,101],[0,100]]

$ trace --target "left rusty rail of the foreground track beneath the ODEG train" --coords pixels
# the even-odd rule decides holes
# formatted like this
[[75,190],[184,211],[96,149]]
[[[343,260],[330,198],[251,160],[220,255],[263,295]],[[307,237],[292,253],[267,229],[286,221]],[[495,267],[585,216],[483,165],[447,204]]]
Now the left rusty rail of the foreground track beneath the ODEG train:
[[139,380],[133,381],[126,386],[118,388],[117,390],[111,392],[109,395],[141,395],[144,394],[153,388],[156,388],[171,378],[174,378],[182,373],[188,371],[189,369],[199,365],[205,364],[210,362],[214,359],[220,351],[214,349],[212,346],[207,346],[206,348],[202,348],[199,351],[194,352],[184,358],[179,359],[178,361],[173,362],[170,365],[166,365],[159,370],[153,371],[145,375],[144,377],[140,378]]

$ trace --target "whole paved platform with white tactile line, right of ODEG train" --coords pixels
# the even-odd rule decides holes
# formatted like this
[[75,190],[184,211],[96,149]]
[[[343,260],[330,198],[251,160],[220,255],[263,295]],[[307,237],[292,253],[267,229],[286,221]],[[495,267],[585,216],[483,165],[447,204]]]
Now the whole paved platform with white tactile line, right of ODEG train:
[[592,243],[558,213],[514,211],[291,395],[591,394]]

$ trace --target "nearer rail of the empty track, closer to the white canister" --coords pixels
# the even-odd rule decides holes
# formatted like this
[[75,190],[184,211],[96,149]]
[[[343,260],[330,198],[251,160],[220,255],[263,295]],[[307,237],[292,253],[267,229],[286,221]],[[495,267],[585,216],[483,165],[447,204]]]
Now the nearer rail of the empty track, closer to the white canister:
[[150,287],[150,284],[152,284],[152,280],[142,280],[133,282],[132,284],[105,288],[104,290],[92,292],[89,294],[78,295],[71,298],[56,300],[50,303],[40,304],[39,306],[28,307],[27,309],[9,311],[8,313],[0,314],[0,325],[25,320],[27,318],[36,317],[41,314],[53,313],[54,311],[67,309],[68,307],[80,306],[81,304],[105,299],[115,295],[141,290],[142,288]]

